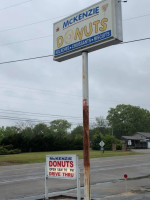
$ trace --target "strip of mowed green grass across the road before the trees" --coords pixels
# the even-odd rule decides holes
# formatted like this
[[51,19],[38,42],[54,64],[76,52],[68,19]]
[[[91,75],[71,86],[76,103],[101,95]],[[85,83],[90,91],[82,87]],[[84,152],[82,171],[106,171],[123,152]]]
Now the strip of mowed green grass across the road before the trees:
[[[0,155],[0,166],[16,165],[16,164],[29,164],[29,163],[42,163],[45,162],[46,155],[60,155],[60,154],[77,154],[79,159],[83,159],[83,151],[55,151],[55,152],[36,152],[36,153],[21,153],[13,155]],[[105,151],[103,154],[100,151],[90,151],[90,158],[112,157],[112,156],[126,156],[136,155],[134,152],[112,152]]]

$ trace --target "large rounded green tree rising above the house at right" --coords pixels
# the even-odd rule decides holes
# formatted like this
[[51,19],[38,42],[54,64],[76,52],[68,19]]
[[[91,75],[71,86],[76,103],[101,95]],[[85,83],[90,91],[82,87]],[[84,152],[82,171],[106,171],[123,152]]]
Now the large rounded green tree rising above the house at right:
[[150,112],[138,106],[117,105],[108,111],[107,120],[113,129],[113,134],[118,138],[140,131],[150,131]]

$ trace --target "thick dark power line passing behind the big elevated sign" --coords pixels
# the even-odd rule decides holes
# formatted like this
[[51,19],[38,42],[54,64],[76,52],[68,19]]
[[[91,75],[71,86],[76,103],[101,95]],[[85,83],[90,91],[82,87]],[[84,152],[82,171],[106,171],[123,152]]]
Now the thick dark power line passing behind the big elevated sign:
[[[150,40],[150,37],[141,38],[141,39],[137,39],[137,40],[130,40],[130,41],[127,41],[127,42],[122,42],[120,44],[128,44],[128,43],[140,42],[140,41],[145,41],[145,40]],[[24,59],[20,59],[20,60],[10,60],[10,61],[1,62],[0,65],[16,63],[16,62],[23,62],[23,61],[28,61],[28,60],[41,59],[41,58],[47,58],[47,57],[53,57],[53,55],[37,56],[37,57],[32,57],[32,58],[24,58]]]

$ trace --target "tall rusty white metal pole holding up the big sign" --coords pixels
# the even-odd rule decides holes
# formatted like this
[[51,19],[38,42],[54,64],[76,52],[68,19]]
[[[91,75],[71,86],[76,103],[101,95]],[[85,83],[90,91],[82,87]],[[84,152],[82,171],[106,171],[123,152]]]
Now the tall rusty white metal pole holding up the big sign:
[[82,53],[84,200],[90,200],[88,53]]

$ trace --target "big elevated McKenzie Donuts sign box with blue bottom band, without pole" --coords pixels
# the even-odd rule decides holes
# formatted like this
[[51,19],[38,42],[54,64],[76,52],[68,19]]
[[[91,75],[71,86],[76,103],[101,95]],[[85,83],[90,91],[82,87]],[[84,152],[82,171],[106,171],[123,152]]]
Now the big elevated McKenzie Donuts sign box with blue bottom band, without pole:
[[54,60],[63,61],[122,41],[121,3],[103,0],[53,26]]

